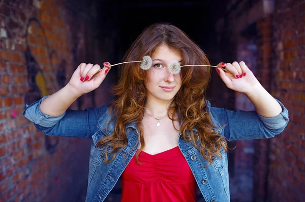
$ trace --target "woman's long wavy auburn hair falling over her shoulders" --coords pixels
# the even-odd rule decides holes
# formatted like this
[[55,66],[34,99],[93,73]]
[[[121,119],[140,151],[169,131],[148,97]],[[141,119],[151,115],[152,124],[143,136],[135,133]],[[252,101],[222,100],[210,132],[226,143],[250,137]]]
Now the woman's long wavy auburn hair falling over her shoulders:
[[[210,64],[206,54],[185,32],[168,23],[156,23],[147,27],[128,50],[124,61],[141,61],[143,56],[151,56],[161,44],[178,51],[182,56],[182,65]],[[139,63],[127,63],[120,68],[118,83],[113,88],[115,100],[110,105],[110,111],[113,112],[111,120],[114,117],[116,119],[114,131],[97,143],[97,146],[105,145],[106,147],[105,163],[113,160],[117,151],[127,146],[126,125],[135,122],[139,132],[138,142],[141,143],[135,155],[139,164],[138,155],[145,147],[141,120],[147,98],[144,85],[148,77],[147,72],[139,67]],[[170,105],[168,115],[169,111],[180,115],[182,137],[200,151],[201,155],[208,160],[208,166],[215,155],[222,157],[220,153],[222,147],[227,151],[225,138],[215,132],[214,128],[217,126],[211,122],[208,111],[203,110],[206,107],[205,91],[210,80],[210,68],[183,67],[180,76],[182,85],[172,101],[174,103]],[[174,122],[174,119],[171,119]],[[198,132],[193,133],[193,128]],[[113,155],[108,159],[110,153]]]

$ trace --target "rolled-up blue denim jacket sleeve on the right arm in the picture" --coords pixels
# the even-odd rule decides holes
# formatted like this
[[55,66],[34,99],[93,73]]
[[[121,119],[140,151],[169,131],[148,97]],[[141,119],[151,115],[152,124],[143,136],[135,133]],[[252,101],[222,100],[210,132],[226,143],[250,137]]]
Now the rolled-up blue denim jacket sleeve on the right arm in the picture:
[[271,138],[283,132],[289,122],[288,110],[276,100],[281,105],[282,112],[274,117],[264,117],[256,111],[210,107],[211,119],[216,119],[219,126],[225,126],[222,132],[229,141]]

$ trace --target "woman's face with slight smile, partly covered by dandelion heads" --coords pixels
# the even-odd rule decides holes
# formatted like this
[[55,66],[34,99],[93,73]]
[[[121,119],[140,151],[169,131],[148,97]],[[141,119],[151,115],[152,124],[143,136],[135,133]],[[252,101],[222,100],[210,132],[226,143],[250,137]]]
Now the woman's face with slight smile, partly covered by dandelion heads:
[[168,46],[160,45],[153,52],[152,59],[153,66],[148,70],[145,84],[148,98],[170,101],[179,91],[182,80],[180,74],[169,72],[169,65],[175,60],[181,64],[182,57]]

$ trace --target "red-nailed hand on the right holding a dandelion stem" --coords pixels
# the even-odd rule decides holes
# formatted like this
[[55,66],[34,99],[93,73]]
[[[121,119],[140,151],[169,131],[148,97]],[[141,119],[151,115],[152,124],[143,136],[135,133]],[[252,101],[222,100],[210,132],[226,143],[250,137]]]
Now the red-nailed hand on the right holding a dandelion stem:
[[228,70],[227,72],[221,68],[216,68],[221,79],[229,89],[247,94],[260,86],[253,72],[243,61],[239,63],[235,61],[232,64],[222,62],[217,66]]

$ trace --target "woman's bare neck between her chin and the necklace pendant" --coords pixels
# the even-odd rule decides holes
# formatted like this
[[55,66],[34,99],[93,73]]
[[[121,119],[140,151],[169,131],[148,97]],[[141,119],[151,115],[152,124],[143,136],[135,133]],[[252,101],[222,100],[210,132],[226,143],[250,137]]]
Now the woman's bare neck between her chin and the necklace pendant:
[[155,118],[161,118],[167,115],[168,108],[170,107],[172,100],[157,100],[149,99],[147,97],[147,102],[145,105],[145,111],[149,115]]

